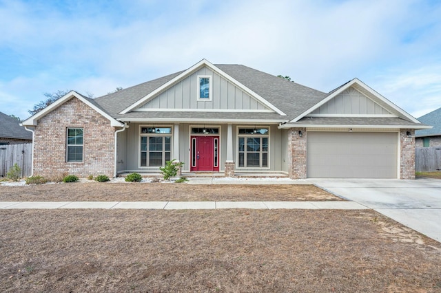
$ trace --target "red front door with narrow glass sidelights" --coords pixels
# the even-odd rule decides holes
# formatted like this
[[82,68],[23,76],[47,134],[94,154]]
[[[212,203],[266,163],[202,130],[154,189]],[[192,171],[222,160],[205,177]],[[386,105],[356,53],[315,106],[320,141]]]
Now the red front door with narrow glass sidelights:
[[192,136],[192,171],[219,171],[219,137]]

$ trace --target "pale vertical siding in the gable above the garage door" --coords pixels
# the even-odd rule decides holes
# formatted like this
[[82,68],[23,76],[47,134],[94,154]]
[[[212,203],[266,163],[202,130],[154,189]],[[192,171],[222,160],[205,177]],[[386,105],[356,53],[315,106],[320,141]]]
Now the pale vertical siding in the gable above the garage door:
[[367,98],[360,91],[349,87],[335,98],[312,112],[313,114],[390,114],[389,111]]

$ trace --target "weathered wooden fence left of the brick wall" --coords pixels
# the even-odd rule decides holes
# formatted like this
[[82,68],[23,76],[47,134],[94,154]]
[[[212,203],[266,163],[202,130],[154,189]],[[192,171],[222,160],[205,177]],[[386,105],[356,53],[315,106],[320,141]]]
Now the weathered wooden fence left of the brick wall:
[[16,163],[21,169],[21,177],[31,175],[32,144],[0,145],[0,177],[6,177],[9,169]]

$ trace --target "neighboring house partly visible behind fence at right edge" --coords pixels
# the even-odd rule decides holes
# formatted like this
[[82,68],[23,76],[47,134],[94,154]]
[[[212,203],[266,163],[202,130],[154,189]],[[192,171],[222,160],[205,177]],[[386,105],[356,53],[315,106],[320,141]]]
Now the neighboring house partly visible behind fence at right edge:
[[433,128],[415,131],[416,147],[441,146],[441,108],[421,116],[418,120],[433,125]]

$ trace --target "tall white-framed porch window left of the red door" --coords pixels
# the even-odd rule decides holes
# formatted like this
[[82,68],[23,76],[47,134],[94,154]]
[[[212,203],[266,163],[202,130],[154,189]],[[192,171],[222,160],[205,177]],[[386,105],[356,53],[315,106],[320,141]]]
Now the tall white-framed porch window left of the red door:
[[140,165],[165,166],[172,153],[172,127],[140,128]]

